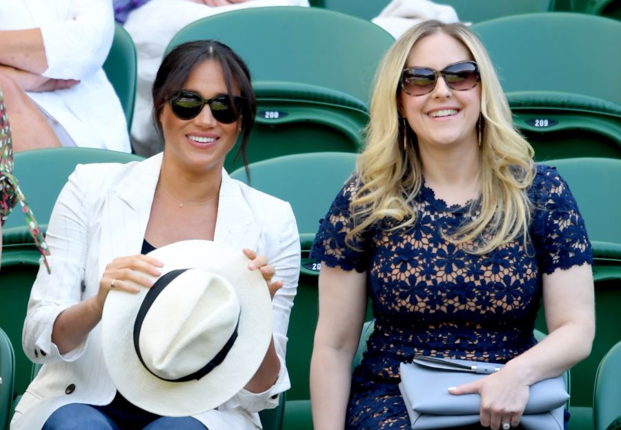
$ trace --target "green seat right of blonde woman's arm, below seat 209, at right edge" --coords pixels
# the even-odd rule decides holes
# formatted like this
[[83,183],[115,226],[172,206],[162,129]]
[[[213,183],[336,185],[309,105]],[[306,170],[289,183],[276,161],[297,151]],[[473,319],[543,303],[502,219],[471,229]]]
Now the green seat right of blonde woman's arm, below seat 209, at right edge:
[[[595,341],[591,355],[571,372],[572,422],[591,422],[593,381],[600,360],[621,340],[621,160],[565,158],[546,161],[567,181],[584,217],[593,245],[595,280]],[[603,194],[605,193],[605,194]],[[613,196],[607,198],[607,196]],[[542,313],[540,313],[542,315]],[[543,318],[536,326],[546,331]],[[584,428],[573,425],[572,428]]]

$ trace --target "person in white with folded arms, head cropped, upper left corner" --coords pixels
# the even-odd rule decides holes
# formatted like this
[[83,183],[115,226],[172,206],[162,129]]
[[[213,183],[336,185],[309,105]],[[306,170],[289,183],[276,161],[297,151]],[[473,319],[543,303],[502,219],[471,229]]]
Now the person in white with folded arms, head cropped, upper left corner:
[[121,103],[101,68],[114,30],[109,0],[0,0],[0,87],[16,152],[131,151]]

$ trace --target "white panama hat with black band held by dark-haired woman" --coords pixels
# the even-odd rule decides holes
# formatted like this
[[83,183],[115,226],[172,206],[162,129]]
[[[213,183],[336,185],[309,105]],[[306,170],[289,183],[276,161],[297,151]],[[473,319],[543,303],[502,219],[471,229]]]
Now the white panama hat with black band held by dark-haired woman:
[[160,416],[192,416],[229,400],[254,376],[272,336],[272,305],[241,250],[185,240],[148,255],[161,276],[139,293],[112,290],[101,320],[106,367],[119,392]]

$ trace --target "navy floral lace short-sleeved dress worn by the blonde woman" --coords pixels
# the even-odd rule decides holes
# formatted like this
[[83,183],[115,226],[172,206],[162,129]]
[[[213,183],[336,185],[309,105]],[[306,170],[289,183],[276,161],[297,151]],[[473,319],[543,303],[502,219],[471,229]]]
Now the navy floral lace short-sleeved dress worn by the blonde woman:
[[[522,240],[484,256],[467,254],[440,235],[467,221],[422,187],[415,225],[388,231],[383,221],[345,245],[352,228],[348,181],[322,220],[311,256],[328,267],[366,271],[375,330],[353,372],[348,429],[408,429],[400,396],[399,363],[416,355],[506,362],[533,345],[542,274],[591,263],[591,245],[573,196],[558,172],[538,166],[531,249]],[[346,288],[346,285],[342,285]]]

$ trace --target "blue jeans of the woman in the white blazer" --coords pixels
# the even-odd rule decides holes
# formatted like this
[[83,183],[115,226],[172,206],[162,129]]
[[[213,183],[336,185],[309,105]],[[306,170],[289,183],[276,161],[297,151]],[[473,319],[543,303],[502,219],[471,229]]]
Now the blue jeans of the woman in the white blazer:
[[137,416],[102,409],[106,407],[70,403],[54,411],[41,430],[206,430],[192,417],[159,417],[150,413]]

